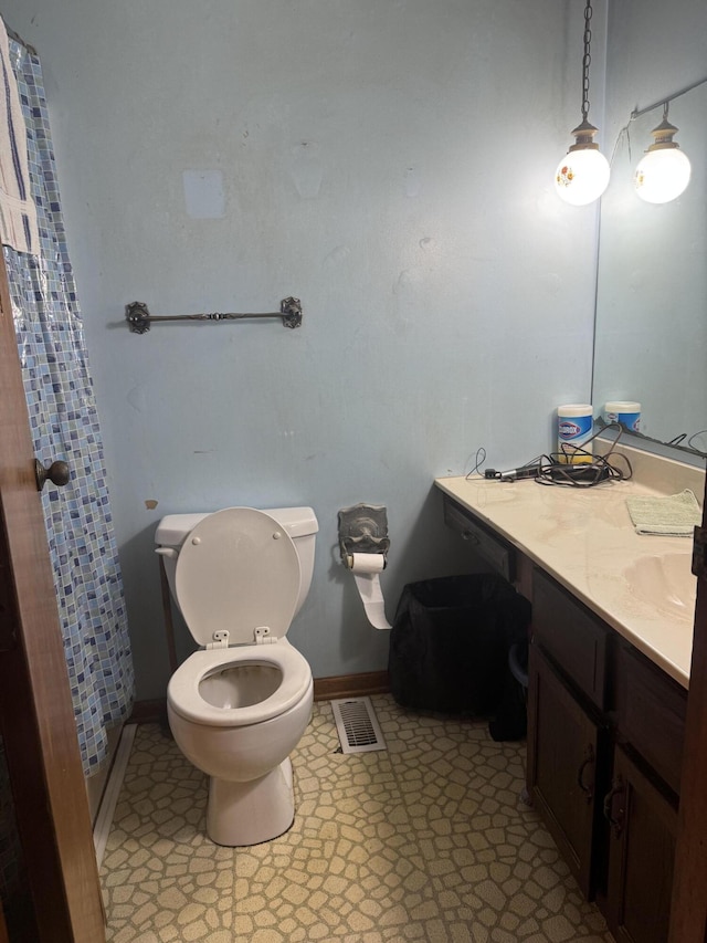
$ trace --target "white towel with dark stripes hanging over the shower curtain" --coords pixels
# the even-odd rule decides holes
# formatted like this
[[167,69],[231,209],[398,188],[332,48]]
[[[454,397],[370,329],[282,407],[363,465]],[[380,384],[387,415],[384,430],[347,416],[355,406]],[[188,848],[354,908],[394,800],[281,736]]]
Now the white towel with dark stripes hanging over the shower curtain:
[[8,33],[0,17],[0,241],[36,255],[40,238],[30,188],[27,126],[10,63]]

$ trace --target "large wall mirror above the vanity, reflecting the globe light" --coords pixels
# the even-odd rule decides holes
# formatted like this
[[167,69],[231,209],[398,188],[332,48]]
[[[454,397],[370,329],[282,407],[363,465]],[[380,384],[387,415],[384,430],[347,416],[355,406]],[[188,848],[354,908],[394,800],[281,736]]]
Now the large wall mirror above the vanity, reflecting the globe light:
[[592,402],[603,413],[606,401],[639,401],[644,436],[707,453],[707,84],[669,103],[692,178],[676,200],[652,205],[639,198],[633,177],[662,119],[661,103],[631,121],[611,160]]

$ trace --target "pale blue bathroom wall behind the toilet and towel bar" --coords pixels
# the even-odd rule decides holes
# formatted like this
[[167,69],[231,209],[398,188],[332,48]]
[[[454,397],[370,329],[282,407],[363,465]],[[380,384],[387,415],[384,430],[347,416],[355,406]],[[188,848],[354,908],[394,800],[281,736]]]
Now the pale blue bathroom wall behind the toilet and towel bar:
[[[582,4],[2,12],[45,72],[138,696],[169,673],[155,526],[232,504],[315,507],[291,639],[315,677],[384,668],[387,636],[338,565],[338,509],[388,506],[391,618],[404,583],[469,566],[433,478],[482,446],[496,467],[535,457],[557,404],[589,396],[597,213],[551,182],[580,118]],[[123,323],[136,298],[182,314],[291,294],[297,331]]]

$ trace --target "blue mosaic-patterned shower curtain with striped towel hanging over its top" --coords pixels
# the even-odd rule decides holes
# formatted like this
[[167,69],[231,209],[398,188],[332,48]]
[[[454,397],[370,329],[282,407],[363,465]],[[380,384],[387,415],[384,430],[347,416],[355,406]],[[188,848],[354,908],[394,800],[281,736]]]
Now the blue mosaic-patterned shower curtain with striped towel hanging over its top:
[[[66,250],[40,61],[0,19],[0,226],[36,458],[68,463],[42,503],[84,767],[107,753],[134,675],[101,428]],[[2,96],[2,92],[4,96]],[[9,244],[10,243],[10,244]]]

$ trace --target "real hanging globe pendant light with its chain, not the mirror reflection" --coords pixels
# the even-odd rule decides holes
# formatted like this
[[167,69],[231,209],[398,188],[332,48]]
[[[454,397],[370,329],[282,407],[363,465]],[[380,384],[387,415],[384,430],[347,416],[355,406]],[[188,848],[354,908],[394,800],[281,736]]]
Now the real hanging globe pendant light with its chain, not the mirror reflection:
[[609,161],[594,143],[597,128],[589,123],[589,65],[592,31],[591,0],[584,8],[584,55],[582,57],[582,123],[572,134],[574,144],[558,164],[555,171],[555,187],[566,203],[583,207],[598,200],[609,186]]

